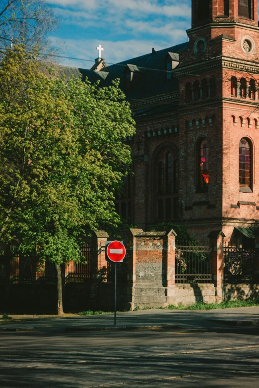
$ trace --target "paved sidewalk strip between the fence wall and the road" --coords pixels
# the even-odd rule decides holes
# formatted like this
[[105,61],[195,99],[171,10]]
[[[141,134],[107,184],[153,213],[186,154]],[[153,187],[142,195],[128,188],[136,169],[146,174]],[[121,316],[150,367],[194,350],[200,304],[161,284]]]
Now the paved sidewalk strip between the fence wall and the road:
[[[71,330],[84,328],[89,330],[114,327],[114,315],[103,314],[93,316],[25,316],[12,315],[13,321],[0,324],[0,330],[17,328],[20,330],[52,328]],[[21,321],[15,321],[21,319]],[[257,326],[259,324],[259,306],[219,310],[139,310],[117,313],[118,327],[161,327],[164,325],[178,326],[183,329],[206,329],[229,326]],[[222,326],[223,325],[223,326]]]

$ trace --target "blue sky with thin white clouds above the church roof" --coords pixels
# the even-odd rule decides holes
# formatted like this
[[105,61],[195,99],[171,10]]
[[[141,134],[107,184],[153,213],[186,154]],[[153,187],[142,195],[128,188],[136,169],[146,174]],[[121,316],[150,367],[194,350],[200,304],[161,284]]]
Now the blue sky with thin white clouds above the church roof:
[[[191,0],[45,0],[60,19],[51,36],[63,55],[115,63],[187,41]],[[92,62],[62,59],[90,68]]]

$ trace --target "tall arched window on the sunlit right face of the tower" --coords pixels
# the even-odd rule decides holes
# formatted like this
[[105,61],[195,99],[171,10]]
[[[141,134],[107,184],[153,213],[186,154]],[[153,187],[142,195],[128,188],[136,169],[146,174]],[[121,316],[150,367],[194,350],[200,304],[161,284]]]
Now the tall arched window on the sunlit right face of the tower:
[[239,186],[251,185],[251,147],[247,139],[239,142]]

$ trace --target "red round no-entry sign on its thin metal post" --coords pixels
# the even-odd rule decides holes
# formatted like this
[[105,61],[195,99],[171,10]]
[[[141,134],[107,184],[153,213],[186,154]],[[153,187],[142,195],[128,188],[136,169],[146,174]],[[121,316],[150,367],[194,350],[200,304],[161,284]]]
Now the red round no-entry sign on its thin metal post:
[[114,326],[116,326],[117,313],[117,263],[122,263],[126,255],[126,248],[121,241],[106,241],[105,260],[115,263],[114,268]]

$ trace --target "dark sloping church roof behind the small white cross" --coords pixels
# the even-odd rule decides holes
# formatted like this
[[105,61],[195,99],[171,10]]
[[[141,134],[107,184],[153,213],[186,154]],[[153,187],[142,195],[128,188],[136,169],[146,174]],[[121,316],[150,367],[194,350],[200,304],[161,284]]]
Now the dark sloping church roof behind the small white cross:
[[[134,100],[145,99],[178,90],[177,79],[172,81],[166,79],[165,58],[169,54],[176,60],[178,58],[178,53],[188,48],[189,42],[182,43],[154,53],[137,56],[107,66],[103,71],[86,70],[68,66],[61,67],[67,77],[74,75],[79,78],[81,74],[82,79],[87,77],[91,83],[100,79],[100,86],[108,86],[113,80],[120,78],[120,88],[125,92],[127,100],[132,102]],[[137,82],[134,84],[132,83],[130,90],[125,90],[124,71],[127,67],[130,68],[131,71],[137,72],[139,76]]]

